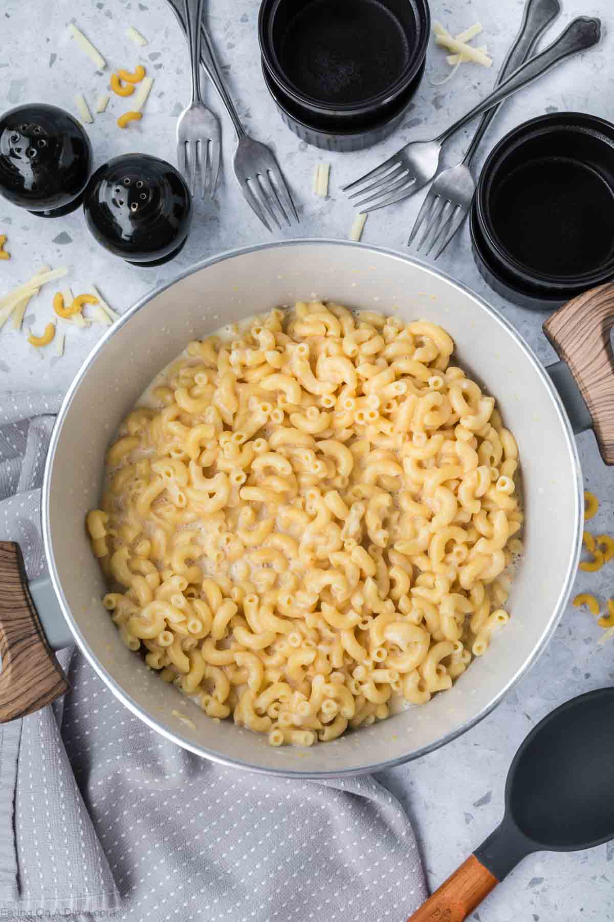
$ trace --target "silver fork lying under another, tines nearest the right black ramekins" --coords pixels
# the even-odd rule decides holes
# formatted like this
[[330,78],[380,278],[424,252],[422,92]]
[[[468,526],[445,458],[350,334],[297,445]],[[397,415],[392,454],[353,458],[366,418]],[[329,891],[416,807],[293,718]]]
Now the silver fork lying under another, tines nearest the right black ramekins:
[[[527,0],[522,25],[505,57],[495,86],[502,83],[505,77],[512,74],[519,65],[527,60],[543,30],[560,12],[559,0]],[[418,231],[425,224],[426,228],[416,250],[418,252],[421,250],[430,235],[431,239],[425,254],[428,255],[437,245],[434,254],[434,259],[437,259],[460,228],[467,217],[475,191],[475,180],[469,171],[469,165],[484,133],[499,109],[500,106],[497,106],[482,115],[478,129],[463,159],[456,166],[441,171],[435,178],[423,201],[423,207],[418,212],[407,242],[408,246],[411,246]]]

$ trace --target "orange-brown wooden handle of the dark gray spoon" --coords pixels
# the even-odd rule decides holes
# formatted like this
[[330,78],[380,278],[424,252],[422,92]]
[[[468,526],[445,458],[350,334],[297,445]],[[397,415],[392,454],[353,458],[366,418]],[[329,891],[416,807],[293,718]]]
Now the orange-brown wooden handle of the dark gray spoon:
[[407,922],[462,922],[499,883],[470,855]]

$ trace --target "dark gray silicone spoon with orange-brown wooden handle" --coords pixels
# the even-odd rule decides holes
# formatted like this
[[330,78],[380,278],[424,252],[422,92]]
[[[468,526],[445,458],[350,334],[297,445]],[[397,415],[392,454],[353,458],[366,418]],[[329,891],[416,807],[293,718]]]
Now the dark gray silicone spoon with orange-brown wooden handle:
[[532,852],[614,838],[614,688],[588,691],[528,734],[507,774],[500,825],[408,922],[462,922]]

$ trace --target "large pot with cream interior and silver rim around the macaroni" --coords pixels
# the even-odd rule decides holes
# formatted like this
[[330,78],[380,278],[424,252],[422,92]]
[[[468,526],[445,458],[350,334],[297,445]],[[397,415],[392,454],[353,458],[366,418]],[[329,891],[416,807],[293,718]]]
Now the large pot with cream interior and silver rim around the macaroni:
[[[505,424],[516,434],[527,515],[526,553],[509,602],[511,621],[452,690],[332,743],[308,750],[275,749],[266,737],[230,721],[215,724],[195,704],[183,708],[194,729],[172,714],[180,691],[160,681],[123,646],[102,608],[99,599],[105,586],[89,549],[84,516],[98,505],[103,457],[118,423],[188,340],[275,305],[315,296],[361,309],[394,309],[404,320],[426,318],[446,327],[456,341],[458,362],[496,397]],[[64,400],[47,462],[42,519],[64,624],[110,690],[134,714],[180,746],[218,762],[325,777],[377,771],[416,758],[472,727],[501,701],[538,658],[569,596],[580,550],[583,492],[573,427],[562,399],[550,375],[501,314],[452,279],[400,254],[346,242],[304,240],[208,260],[145,296],[113,325]],[[52,635],[50,643],[57,648],[65,640],[62,625],[53,618],[48,587],[30,589],[43,627]],[[6,607],[3,623],[6,629]],[[13,631],[13,638],[17,635]],[[31,639],[29,657],[20,658],[15,644],[12,653],[11,644],[5,644],[10,666],[4,690],[0,681],[0,715],[5,719],[64,691],[57,668],[51,669],[50,678],[49,664],[46,673],[40,666],[38,686],[35,683],[32,691],[27,673],[38,662],[37,651],[44,651],[35,634]],[[27,685],[22,698],[21,689]]]

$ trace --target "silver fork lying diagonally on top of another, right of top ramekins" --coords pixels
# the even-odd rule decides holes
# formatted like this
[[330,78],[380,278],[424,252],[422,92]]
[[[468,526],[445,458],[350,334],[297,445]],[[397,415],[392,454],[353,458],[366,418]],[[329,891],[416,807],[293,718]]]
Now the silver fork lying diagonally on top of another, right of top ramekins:
[[[411,144],[405,145],[404,148],[400,148],[396,154],[389,157],[381,166],[366,173],[365,176],[355,180],[353,183],[346,185],[345,190],[353,189],[358,185],[363,186],[363,188],[350,196],[351,198],[361,197],[361,201],[356,203],[356,207],[363,212],[376,211],[377,208],[384,208],[392,205],[393,202],[400,202],[401,199],[418,192],[419,189],[422,189],[426,183],[433,179],[439,165],[442,146],[463,125],[481,115],[482,112],[499,105],[508,96],[512,96],[519,89],[523,89],[533,80],[549,71],[551,67],[564,61],[565,58],[585,51],[587,48],[592,48],[593,45],[597,44],[600,37],[600,19],[585,16],[573,19],[567,29],[562,31],[559,38],[553,41],[548,48],[536,54],[526,64],[518,67],[511,77],[504,80],[497,89],[494,89],[470,112],[463,115],[462,118],[458,119],[458,122],[455,122],[445,132],[435,137],[433,141],[413,141]],[[364,183],[369,184],[364,185]],[[365,193],[370,193],[371,195],[362,198]],[[369,205],[371,202],[374,204]],[[365,207],[365,205],[369,207]]]

